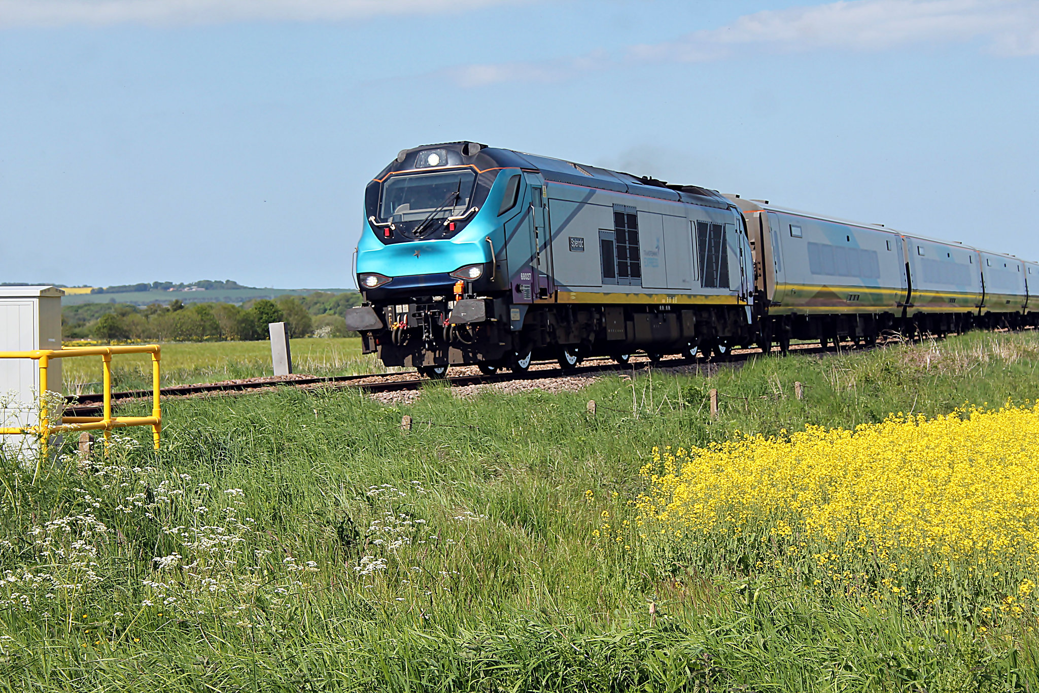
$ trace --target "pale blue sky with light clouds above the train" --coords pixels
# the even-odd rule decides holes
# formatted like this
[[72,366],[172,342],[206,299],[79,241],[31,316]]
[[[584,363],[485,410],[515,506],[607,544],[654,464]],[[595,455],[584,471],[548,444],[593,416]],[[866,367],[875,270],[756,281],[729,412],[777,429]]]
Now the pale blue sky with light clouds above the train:
[[348,287],[470,139],[1039,260],[1035,0],[0,0],[0,282]]

